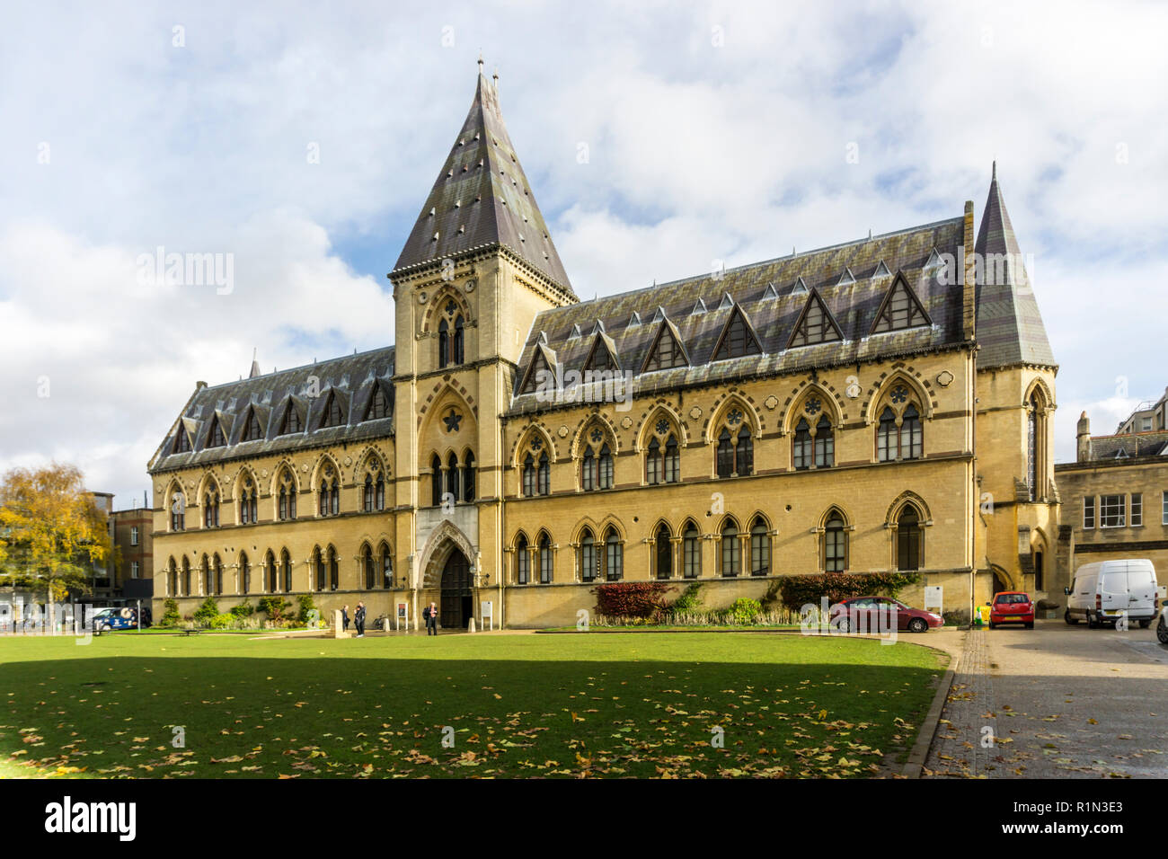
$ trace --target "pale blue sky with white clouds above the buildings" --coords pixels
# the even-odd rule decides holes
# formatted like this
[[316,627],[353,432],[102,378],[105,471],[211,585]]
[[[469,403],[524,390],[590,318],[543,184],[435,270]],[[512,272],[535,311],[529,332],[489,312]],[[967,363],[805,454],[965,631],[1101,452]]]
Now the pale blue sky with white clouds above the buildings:
[[[0,470],[132,506],[197,380],[389,345],[474,93],[591,298],[960,215],[990,164],[1056,458],[1168,386],[1155,4],[25,4],[0,30]],[[159,250],[162,249],[162,250]],[[168,284],[160,254],[218,280]],[[229,286],[227,284],[230,284]]]

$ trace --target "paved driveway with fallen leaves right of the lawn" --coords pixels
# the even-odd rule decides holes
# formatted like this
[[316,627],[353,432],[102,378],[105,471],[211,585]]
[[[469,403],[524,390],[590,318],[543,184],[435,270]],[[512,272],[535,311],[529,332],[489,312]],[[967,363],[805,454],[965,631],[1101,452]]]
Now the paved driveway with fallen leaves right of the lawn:
[[924,777],[1168,777],[1168,647],[1155,629],[1038,621],[959,644]]

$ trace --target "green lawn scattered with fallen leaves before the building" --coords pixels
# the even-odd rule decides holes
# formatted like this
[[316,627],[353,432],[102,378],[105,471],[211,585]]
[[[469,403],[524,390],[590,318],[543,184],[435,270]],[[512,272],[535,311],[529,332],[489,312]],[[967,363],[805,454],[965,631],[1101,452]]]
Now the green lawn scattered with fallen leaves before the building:
[[0,776],[867,776],[944,660],[765,632],[4,638]]

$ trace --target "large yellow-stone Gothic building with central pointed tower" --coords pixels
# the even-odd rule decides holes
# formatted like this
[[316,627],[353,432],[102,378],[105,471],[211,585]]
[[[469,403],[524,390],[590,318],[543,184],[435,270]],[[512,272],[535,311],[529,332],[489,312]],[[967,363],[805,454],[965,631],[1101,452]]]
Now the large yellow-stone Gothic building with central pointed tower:
[[1056,366],[996,174],[976,241],[966,202],[580,302],[480,71],[389,278],[395,346],[199,383],[148,466],[157,600],[544,626],[606,581],[899,568],[968,611],[1049,554]]

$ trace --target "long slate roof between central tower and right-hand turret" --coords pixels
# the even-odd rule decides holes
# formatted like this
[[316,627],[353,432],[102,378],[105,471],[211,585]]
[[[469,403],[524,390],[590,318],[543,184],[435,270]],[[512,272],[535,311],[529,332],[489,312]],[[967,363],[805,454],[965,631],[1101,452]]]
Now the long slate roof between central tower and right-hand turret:
[[[702,275],[543,311],[531,326],[520,359],[510,413],[543,406],[536,394],[519,394],[536,351],[565,372],[580,370],[600,334],[619,366],[639,374],[633,382],[634,394],[932,352],[964,342],[964,288],[943,283],[955,279],[943,277],[944,266],[926,268],[934,251],[959,258],[964,227],[964,217],[958,216],[730,269],[717,277]],[[875,276],[881,263],[891,275]],[[854,283],[847,283],[849,271]],[[898,276],[916,292],[931,324],[871,334],[876,313]],[[842,340],[788,348],[797,320],[816,295],[839,325]],[[712,361],[735,309],[745,316],[762,353]],[[654,321],[662,313],[665,318]],[[690,366],[641,374],[656,332],[667,323],[684,345]]]

